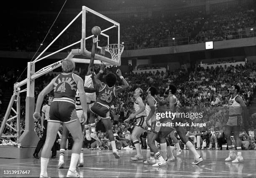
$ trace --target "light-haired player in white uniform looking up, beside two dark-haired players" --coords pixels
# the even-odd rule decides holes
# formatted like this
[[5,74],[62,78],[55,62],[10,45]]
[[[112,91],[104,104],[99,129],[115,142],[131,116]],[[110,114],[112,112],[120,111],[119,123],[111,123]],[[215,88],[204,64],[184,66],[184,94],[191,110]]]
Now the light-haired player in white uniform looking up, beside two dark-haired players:
[[[133,140],[133,144],[137,150],[137,155],[131,158],[131,160],[143,160],[143,155],[141,153],[141,145],[140,145],[140,136],[143,133],[144,126],[146,126],[145,120],[145,105],[143,104],[141,95],[143,95],[143,90],[141,88],[136,88],[134,91],[135,101],[133,104],[134,112],[132,113],[128,119],[124,122],[128,123],[131,119],[136,118],[136,126],[133,129],[131,134],[131,139]],[[145,125],[144,125],[145,124]]]

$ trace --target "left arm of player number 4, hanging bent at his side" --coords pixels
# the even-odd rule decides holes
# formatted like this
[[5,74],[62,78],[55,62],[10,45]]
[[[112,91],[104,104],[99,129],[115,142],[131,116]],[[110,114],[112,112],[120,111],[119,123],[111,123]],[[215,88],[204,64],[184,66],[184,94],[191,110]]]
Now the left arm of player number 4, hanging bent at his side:
[[54,78],[53,80],[51,80],[51,82],[44,88],[44,90],[42,90],[36,100],[36,110],[35,113],[33,114],[33,117],[38,119],[40,117],[40,109],[41,109],[41,105],[43,103],[44,100],[44,96],[47,95],[48,93],[51,92],[51,90],[54,89],[54,81],[56,80],[56,78]]

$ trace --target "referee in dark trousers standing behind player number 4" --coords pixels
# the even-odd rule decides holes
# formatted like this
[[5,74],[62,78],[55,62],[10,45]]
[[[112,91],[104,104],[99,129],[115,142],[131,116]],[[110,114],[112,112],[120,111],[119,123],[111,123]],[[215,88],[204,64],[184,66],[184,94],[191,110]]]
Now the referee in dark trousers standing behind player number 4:
[[[53,100],[53,96],[49,95],[47,97],[48,104],[44,105],[42,108],[42,118],[41,118],[41,130],[43,131],[42,138],[37,143],[36,150],[33,153],[33,156],[37,159],[39,159],[38,153],[43,147],[45,140],[46,140],[46,133],[47,133],[47,120],[49,119],[49,111],[50,111],[50,106],[51,102]],[[53,147],[51,148],[51,158],[56,158],[57,154],[57,145],[56,142],[54,142]]]

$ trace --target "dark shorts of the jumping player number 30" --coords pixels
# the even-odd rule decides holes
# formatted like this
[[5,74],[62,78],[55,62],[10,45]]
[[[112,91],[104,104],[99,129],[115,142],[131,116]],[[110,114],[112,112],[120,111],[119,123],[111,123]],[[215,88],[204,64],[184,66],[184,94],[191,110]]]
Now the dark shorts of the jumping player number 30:
[[99,115],[102,119],[110,118],[108,105],[95,102],[90,104],[90,111],[94,114]]

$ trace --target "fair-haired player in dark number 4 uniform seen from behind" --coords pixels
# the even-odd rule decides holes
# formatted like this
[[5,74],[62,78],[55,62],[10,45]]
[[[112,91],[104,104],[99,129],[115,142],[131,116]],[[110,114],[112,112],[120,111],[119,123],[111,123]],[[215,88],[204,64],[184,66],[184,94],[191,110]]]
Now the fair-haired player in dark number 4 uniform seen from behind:
[[40,177],[48,177],[47,165],[49,162],[51,147],[54,144],[59,126],[63,123],[71,133],[74,143],[72,147],[72,155],[70,160],[67,177],[80,177],[76,171],[77,161],[82,145],[82,128],[77,118],[75,108],[75,96],[79,91],[79,98],[82,105],[84,120],[87,120],[87,102],[84,92],[84,82],[82,78],[74,74],[75,63],[70,59],[66,59],[62,63],[63,73],[55,77],[49,85],[38,95],[36,102],[36,111],[34,118],[39,118],[40,108],[44,96],[54,89],[54,99],[50,108],[50,120],[48,120],[46,142],[41,153],[41,173]]

